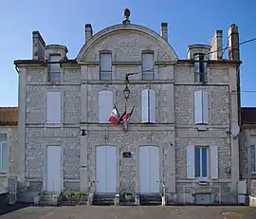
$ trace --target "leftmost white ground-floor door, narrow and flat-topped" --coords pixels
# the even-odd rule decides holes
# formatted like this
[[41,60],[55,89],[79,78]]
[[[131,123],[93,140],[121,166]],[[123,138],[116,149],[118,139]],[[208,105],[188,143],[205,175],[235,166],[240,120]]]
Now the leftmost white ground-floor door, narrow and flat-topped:
[[47,146],[46,153],[46,191],[62,190],[62,150],[61,146]]

